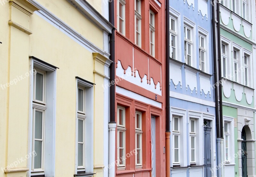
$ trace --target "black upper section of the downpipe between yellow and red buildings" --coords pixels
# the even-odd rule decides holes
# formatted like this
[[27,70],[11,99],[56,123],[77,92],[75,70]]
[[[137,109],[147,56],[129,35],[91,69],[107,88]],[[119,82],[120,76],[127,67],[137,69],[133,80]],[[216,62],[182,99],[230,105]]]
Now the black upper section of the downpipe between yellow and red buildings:
[[[109,2],[109,22],[115,26],[115,7],[114,1]],[[110,35],[109,39],[109,59],[113,61],[113,63],[109,66],[109,82],[115,82],[115,28],[112,29],[112,34]],[[113,82],[112,82],[113,81]],[[116,84],[110,84],[109,88],[109,112],[110,112],[110,122],[109,123],[116,123],[115,122],[115,101],[116,101]]]

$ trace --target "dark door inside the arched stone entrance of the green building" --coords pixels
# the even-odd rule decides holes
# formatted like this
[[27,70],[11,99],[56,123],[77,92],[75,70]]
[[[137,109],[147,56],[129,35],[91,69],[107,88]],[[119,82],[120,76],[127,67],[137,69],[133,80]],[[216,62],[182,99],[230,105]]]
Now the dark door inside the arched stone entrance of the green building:
[[247,177],[247,147],[246,147],[246,132],[243,127],[242,129],[242,134],[241,138],[243,139],[242,141],[242,177]]

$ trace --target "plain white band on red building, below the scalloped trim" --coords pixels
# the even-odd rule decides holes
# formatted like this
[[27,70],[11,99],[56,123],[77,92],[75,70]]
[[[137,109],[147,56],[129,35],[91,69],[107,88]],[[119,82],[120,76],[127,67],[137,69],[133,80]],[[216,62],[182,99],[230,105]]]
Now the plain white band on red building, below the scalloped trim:
[[144,96],[141,96],[137,93],[134,93],[132,91],[126,90],[124,88],[116,86],[116,93],[122,94],[122,95],[129,95],[130,98],[141,101],[143,103],[151,104],[153,106],[156,106],[158,108],[162,108],[162,103],[159,103],[155,100],[146,98]]

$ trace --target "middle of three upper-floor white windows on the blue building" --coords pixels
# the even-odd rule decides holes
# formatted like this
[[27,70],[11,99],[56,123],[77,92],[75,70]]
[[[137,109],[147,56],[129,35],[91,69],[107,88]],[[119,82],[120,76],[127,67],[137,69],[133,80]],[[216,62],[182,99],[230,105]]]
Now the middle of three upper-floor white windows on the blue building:
[[192,66],[192,28],[184,24],[184,47],[185,61],[187,65]]

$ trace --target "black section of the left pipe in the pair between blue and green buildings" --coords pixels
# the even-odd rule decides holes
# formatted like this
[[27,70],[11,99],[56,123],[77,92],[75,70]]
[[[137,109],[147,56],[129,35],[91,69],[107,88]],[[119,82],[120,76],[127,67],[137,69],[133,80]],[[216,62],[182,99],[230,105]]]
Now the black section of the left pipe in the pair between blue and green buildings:
[[219,118],[219,97],[218,97],[218,74],[216,57],[216,30],[215,30],[215,4],[212,3],[212,39],[213,39],[213,66],[214,66],[214,93],[215,93],[215,115],[217,138],[220,138],[220,118]]

